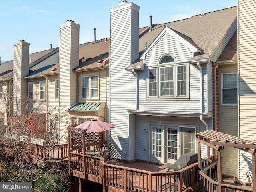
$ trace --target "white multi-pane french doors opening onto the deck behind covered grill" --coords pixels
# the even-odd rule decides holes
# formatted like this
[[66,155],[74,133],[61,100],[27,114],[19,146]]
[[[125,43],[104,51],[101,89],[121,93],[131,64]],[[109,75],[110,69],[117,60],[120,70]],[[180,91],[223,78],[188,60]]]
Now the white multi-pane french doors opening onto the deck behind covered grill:
[[196,152],[195,127],[151,125],[150,160],[174,163],[181,154]]

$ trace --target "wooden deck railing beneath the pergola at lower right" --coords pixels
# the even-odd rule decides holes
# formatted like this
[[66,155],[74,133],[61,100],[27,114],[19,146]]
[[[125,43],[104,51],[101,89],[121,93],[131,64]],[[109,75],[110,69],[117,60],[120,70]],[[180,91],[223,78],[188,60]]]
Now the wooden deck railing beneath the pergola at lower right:
[[[211,164],[205,166],[199,172],[200,176],[200,192],[218,192],[218,160],[215,160]],[[222,191],[225,192],[252,192],[249,187],[238,186],[232,184],[221,184]]]

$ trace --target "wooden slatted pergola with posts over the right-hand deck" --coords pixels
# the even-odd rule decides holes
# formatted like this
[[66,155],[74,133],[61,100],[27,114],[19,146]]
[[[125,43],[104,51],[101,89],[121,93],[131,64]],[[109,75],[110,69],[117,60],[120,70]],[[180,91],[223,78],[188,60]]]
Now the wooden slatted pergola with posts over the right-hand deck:
[[213,130],[208,130],[204,132],[199,132],[196,134],[196,141],[198,142],[198,161],[199,168],[201,169],[201,143],[207,146],[207,156],[210,161],[210,147],[217,151],[218,156],[218,191],[221,191],[221,150],[225,146],[233,147],[245,152],[252,154],[252,184],[253,191],[256,191],[256,143],[250,140],[244,140],[239,137],[231,136],[221,132],[216,132]]

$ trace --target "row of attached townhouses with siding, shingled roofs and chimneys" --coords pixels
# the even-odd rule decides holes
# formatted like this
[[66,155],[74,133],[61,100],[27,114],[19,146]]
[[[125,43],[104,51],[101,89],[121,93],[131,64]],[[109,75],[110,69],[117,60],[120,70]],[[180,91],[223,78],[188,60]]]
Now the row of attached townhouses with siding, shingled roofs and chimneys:
[[[173,163],[197,152],[194,135],[204,130],[254,140],[251,4],[139,28],[139,6],[124,1],[110,9],[110,38],[83,46],[68,20],[59,48],[29,54],[28,43],[14,44],[13,62],[0,66],[2,95],[13,95],[15,116],[44,114],[40,126],[60,143],[72,124],[114,124],[111,155],[128,162]],[[1,117],[6,125],[4,107]],[[246,181],[250,157],[224,150],[222,173]]]

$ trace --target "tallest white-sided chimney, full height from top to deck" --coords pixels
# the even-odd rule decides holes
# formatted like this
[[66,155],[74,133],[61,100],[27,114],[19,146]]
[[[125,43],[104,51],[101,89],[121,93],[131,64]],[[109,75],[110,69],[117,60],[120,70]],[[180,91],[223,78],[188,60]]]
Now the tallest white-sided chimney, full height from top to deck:
[[112,152],[126,160],[133,156],[127,110],[136,109],[136,77],[125,68],[138,58],[138,9],[126,3],[110,10],[110,123],[116,126],[111,130]]

